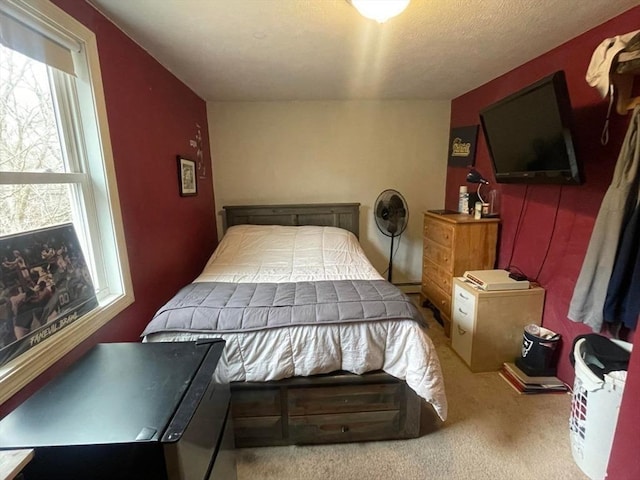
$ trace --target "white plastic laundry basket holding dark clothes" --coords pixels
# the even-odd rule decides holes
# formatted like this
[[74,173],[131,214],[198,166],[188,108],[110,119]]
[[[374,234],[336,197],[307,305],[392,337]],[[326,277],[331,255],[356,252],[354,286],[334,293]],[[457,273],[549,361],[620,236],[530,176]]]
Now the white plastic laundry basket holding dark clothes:
[[[627,351],[633,345],[612,340]],[[591,479],[606,477],[613,434],[618,422],[624,380],[605,374],[601,380],[584,362],[585,339],[576,342],[575,382],[571,399],[569,431],[571,452],[578,467]]]

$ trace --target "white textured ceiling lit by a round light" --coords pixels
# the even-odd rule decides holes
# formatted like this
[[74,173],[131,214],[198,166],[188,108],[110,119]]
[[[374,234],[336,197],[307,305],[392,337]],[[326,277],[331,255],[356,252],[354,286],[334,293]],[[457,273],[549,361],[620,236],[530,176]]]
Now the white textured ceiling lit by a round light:
[[89,1],[208,101],[449,100],[638,4],[412,0],[378,24],[346,0]]

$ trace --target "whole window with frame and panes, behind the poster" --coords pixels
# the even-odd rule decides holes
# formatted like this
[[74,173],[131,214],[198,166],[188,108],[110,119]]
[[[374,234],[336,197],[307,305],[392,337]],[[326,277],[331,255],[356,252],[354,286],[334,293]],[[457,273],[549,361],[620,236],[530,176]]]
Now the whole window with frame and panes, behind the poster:
[[45,0],[0,2],[0,237],[72,223],[98,307],[0,366],[4,402],[133,302],[96,40]]

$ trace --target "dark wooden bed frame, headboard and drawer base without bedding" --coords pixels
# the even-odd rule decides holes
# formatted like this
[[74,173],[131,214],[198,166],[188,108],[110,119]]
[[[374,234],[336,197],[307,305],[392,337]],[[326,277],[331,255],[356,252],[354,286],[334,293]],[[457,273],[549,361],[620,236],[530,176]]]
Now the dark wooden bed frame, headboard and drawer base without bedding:
[[[359,203],[223,208],[227,228],[322,225],[358,235]],[[422,403],[403,380],[382,371],[231,383],[236,447],[415,438]]]

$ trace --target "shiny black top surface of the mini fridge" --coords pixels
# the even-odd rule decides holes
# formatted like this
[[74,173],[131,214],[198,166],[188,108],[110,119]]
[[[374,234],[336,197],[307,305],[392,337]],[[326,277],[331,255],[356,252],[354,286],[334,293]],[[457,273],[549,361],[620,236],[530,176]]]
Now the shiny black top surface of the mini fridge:
[[0,448],[160,442],[178,406],[192,406],[182,399],[208,352],[194,342],[98,344],[0,421]]

